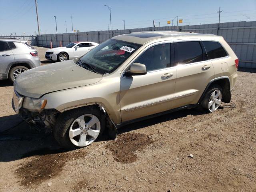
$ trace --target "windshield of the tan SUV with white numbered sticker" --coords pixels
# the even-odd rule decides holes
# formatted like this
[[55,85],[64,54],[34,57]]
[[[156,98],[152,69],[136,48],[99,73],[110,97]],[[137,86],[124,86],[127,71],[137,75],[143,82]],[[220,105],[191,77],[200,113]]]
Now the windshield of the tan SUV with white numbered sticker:
[[87,54],[74,60],[76,64],[99,74],[111,73],[141,45],[109,39]]

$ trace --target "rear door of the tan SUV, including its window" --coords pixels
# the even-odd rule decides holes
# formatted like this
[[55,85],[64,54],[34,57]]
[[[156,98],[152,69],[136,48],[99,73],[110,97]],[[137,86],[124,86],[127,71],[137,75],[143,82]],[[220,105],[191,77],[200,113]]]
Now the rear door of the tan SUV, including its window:
[[173,107],[196,104],[214,78],[214,68],[200,40],[177,40],[174,47],[177,78]]

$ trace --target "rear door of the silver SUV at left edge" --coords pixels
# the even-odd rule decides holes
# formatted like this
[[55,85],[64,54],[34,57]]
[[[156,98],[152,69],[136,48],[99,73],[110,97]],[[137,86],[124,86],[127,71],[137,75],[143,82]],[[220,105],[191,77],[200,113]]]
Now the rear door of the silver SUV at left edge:
[[0,41],[0,74],[7,75],[9,66],[14,63],[14,55],[12,50],[10,50],[8,43],[6,41]]

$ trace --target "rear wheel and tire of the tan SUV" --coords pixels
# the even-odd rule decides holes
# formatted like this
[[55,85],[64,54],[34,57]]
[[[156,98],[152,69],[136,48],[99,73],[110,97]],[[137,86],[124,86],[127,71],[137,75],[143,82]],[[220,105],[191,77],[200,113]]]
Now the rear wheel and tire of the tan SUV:
[[[220,95],[218,96],[219,93]],[[215,95],[215,98],[213,98],[213,95]],[[213,84],[206,91],[202,102],[196,107],[196,110],[214,112],[219,108],[221,99],[222,88],[218,84]],[[210,104],[210,101],[212,101],[212,105]]]

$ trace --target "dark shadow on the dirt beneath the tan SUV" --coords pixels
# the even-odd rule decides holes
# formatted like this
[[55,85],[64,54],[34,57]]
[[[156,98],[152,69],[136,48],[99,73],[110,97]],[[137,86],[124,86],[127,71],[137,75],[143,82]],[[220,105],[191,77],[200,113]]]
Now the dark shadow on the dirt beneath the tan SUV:
[[[221,110],[223,107],[219,109]],[[198,116],[206,113],[207,112],[197,112],[193,109],[180,110],[123,126],[118,129],[118,135],[161,122],[183,118],[188,115]],[[30,128],[18,115],[0,117],[0,124],[3,125],[0,128],[0,162],[10,162],[30,156],[56,154],[68,151],[60,148],[52,134],[45,134]],[[106,140],[110,140],[107,134],[98,141]]]

